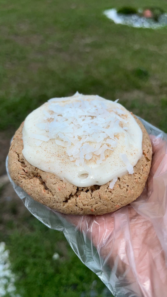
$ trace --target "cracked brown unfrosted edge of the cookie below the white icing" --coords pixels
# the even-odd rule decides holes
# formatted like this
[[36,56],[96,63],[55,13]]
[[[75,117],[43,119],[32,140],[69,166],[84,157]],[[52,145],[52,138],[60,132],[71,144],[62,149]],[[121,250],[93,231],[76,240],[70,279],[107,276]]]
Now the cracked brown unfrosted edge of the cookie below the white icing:
[[9,150],[8,168],[12,180],[34,200],[65,214],[102,215],[134,201],[143,191],[151,167],[152,147],[149,135],[135,117],[142,132],[143,156],[133,167],[132,175],[118,178],[113,189],[105,185],[76,187],[51,173],[30,165],[23,157],[22,128],[16,131]]

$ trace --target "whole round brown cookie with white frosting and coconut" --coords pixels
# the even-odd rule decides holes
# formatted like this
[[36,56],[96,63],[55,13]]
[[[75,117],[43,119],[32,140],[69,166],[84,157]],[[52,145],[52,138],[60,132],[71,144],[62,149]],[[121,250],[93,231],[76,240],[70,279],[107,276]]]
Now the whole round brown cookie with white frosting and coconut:
[[76,93],[31,112],[8,157],[11,178],[34,200],[62,213],[100,215],[142,193],[152,148],[122,105]]

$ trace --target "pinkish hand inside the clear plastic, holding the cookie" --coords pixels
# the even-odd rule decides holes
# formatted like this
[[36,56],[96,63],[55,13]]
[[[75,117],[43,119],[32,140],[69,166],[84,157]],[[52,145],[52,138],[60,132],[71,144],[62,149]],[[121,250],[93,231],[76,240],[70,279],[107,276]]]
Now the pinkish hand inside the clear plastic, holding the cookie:
[[97,248],[102,266],[109,264],[111,285],[118,296],[133,292],[133,296],[158,297],[167,291],[167,210],[163,206],[167,178],[162,177],[167,173],[167,143],[159,137],[150,138],[152,167],[137,201],[103,216],[70,217]]

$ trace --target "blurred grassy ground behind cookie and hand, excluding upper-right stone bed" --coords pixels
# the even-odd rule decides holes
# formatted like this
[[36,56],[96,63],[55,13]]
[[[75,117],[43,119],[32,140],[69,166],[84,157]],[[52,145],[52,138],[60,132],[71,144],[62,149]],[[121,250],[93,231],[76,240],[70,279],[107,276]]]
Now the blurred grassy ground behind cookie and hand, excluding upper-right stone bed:
[[112,296],[63,233],[25,209],[8,183],[5,159],[29,112],[76,91],[119,98],[167,132],[167,27],[128,27],[103,14],[127,5],[167,12],[166,0],[0,2],[0,297]]

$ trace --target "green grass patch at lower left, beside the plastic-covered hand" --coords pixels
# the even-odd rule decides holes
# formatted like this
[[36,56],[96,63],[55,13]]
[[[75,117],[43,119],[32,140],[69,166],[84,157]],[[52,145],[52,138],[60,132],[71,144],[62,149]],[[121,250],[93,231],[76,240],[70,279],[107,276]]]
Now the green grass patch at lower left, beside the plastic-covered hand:
[[[103,292],[104,284],[81,265],[65,242],[63,233],[48,230],[37,220],[32,220],[29,225],[26,232],[15,230],[8,243],[12,270],[18,277],[15,282],[17,293],[27,297],[32,294],[88,297],[92,289],[96,293]],[[58,253],[60,258],[54,260],[54,253]],[[97,295],[102,297],[100,293]]]

